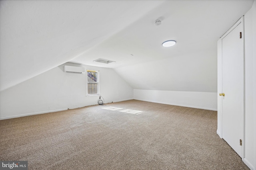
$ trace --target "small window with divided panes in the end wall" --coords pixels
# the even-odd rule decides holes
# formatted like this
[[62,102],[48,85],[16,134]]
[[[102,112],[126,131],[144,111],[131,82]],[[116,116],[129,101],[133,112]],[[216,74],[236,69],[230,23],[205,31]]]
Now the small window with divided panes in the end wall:
[[87,70],[87,94],[99,94],[99,72]]

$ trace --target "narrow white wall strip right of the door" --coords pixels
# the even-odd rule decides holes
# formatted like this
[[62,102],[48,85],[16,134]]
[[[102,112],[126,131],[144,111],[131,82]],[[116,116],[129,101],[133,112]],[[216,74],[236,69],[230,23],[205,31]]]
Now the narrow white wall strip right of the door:
[[244,15],[245,33],[245,158],[256,170],[256,0]]

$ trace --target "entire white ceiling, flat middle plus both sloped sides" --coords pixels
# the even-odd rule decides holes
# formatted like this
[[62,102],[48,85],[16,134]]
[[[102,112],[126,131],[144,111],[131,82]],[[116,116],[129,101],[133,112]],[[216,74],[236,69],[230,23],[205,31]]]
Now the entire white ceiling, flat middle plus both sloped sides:
[[136,89],[216,92],[216,42],[252,3],[1,0],[0,90],[69,61],[113,68]]

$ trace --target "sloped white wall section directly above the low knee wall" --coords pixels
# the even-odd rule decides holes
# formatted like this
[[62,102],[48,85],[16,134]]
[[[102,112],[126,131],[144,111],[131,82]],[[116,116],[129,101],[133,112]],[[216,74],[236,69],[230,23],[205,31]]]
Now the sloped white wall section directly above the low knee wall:
[[134,89],[217,92],[217,45],[114,70]]

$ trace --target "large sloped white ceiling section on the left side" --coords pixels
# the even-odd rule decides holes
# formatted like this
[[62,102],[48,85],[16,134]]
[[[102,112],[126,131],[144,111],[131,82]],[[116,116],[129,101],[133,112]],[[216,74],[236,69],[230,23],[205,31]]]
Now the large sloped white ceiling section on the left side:
[[1,0],[0,90],[70,61],[162,3]]

